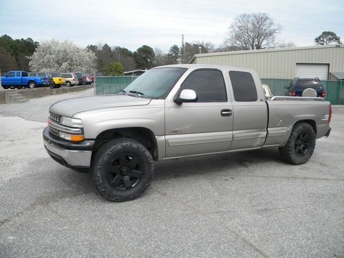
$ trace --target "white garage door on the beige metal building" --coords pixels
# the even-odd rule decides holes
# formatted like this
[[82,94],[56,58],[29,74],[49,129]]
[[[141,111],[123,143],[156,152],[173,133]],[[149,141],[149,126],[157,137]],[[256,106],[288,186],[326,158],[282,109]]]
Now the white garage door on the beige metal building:
[[328,64],[297,63],[295,76],[299,78],[315,78],[328,80]]

